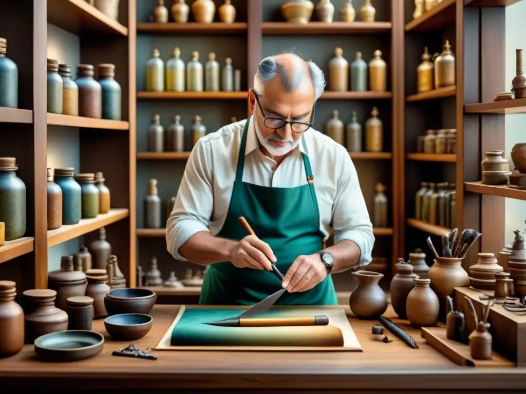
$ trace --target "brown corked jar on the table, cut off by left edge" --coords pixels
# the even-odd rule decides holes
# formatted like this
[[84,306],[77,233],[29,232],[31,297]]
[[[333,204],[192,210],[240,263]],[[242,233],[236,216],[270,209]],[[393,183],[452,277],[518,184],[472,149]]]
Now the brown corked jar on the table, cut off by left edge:
[[0,281],[0,358],[24,347],[24,310],[15,302],[16,283]]

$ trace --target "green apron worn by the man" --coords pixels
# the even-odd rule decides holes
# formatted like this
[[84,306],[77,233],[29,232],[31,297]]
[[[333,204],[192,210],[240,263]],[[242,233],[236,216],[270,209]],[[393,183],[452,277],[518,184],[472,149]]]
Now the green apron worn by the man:
[[[247,231],[238,222],[244,216],[259,239],[270,245],[277,258],[277,267],[285,275],[300,255],[310,255],[321,249],[324,239],[320,231],[320,214],[314,189],[310,161],[303,155],[308,183],[295,188],[272,188],[242,181],[245,165],[248,118],[239,148],[236,180],[232,188],[230,206],[221,231],[217,236],[240,241]],[[307,146],[301,136],[305,151]],[[321,262],[320,262],[321,264]],[[274,274],[251,268],[237,268],[230,262],[208,266],[199,304],[252,305],[281,288]],[[281,305],[336,305],[338,304],[330,275],[306,292],[282,295]]]

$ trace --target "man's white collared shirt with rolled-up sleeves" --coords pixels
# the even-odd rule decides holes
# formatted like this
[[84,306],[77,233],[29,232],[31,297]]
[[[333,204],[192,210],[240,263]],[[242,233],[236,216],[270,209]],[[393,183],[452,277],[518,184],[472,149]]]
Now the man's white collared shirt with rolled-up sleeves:
[[[168,252],[186,260],[179,248],[199,231],[216,235],[223,226],[230,204],[241,138],[247,120],[227,125],[199,139],[190,153],[174,210],[166,223]],[[325,239],[335,232],[335,243],[355,242],[361,251],[357,265],[371,262],[375,243],[372,224],[360,189],[355,165],[345,147],[316,130],[304,133],[320,212],[320,230]],[[274,188],[294,188],[307,183],[306,153],[300,142],[279,164],[258,147],[250,120],[243,182]]]

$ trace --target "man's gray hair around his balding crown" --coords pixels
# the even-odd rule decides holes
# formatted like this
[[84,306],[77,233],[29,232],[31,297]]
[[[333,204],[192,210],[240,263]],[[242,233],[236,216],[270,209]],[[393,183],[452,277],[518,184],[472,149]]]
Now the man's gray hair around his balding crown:
[[323,93],[323,89],[325,89],[325,77],[323,76],[323,71],[321,71],[316,64],[312,63],[312,61],[305,61],[296,54],[281,52],[278,55],[281,54],[287,54],[292,57],[292,61],[294,62],[294,71],[292,72],[292,75],[290,75],[290,72],[285,66],[279,63],[279,61],[276,61],[274,57],[266,57],[259,62],[256,75],[254,76],[254,88],[256,91],[263,95],[267,82],[278,74],[281,77],[281,86],[288,92],[295,91],[301,86],[301,82],[305,80],[305,63],[310,71],[309,74],[312,86],[314,87],[315,101],[318,100]]

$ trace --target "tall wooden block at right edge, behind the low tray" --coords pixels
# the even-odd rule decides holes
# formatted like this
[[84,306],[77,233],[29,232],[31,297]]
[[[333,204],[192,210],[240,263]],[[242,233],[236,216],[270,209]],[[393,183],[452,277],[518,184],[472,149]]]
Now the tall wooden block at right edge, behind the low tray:
[[[488,294],[488,292],[484,292]],[[454,293],[455,309],[461,310],[466,315],[468,332],[475,329],[475,320],[471,307],[464,296],[471,298],[477,315],[482,314],[482,305],[487,300],[480,300],[482,293],[470,287],[456,287]],[[526,315],[510,312],[502,305],[494,304],[488,317],[491,325],[490,332],[493,336],[493,350],[502,356],[517,363],[517,366],[526,366]]]

